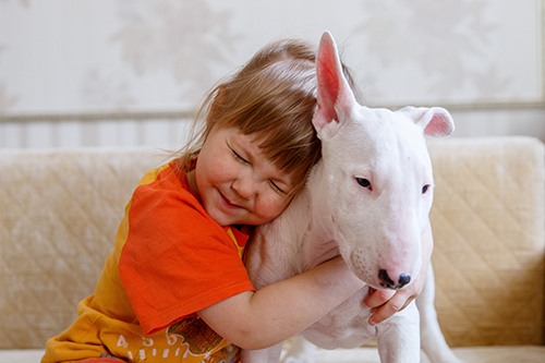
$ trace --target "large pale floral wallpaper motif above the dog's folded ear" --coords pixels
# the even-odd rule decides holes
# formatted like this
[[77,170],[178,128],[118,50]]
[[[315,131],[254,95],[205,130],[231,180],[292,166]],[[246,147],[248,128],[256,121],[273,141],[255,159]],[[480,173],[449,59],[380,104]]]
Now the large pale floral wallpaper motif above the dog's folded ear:
[[493,98],[510,81],[492,58],[491,43],[501,24],[486,16],[491,5],[486,0],[361,2],[371,15],[356,33],[368,57],[385,69],[409,65],[425,74],[428,93],[461,101],[469,100],[457,97],[461,92]]

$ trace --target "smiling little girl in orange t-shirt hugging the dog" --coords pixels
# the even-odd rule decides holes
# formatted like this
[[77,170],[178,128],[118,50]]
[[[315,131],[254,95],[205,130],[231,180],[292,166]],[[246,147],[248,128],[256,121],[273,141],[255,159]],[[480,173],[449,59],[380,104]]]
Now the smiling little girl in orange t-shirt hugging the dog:
[[[255,291],[242,259],[252,226],[282,213],[320,157],[314,62],[314,47],[278,41],[208,95],[204,129],[138,183],[95,293],[44,363],[238,362],[239,347],[279,343],[364,286],[337,257]],[[372,323],[422,285],[371,295]]]

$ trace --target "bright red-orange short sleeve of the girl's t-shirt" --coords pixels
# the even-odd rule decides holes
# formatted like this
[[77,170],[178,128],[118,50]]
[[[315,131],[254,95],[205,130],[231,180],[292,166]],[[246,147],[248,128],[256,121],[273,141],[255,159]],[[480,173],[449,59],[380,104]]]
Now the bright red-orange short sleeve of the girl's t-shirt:
[[119,275],[144,334],[253,290],[237,245],[189,192],[141,185],[128,217]]

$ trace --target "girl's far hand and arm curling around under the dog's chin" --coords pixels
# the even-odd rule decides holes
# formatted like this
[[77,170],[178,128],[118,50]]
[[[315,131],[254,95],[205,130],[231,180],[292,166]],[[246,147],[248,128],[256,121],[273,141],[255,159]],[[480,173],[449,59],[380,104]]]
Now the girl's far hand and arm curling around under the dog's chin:
[[370,288],[368,295],[363,300],[363,303],[371,307],[371,313],[373,314],[368,319],[371,325],[382,323],[397,312],[402,311],[422,292],[424,283],[426,282],[433,249],[434,240],[432,228],[428,223],[422,237],[422,267],[414,282],[409,285],[405,289],[397,291]]

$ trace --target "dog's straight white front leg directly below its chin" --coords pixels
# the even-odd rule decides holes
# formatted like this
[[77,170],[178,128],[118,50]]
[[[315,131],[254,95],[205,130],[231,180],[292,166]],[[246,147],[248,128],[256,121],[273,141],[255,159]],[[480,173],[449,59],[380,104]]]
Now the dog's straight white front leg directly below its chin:
[[414,302],[376,326],[383,363],[420,362],[420,320]]

